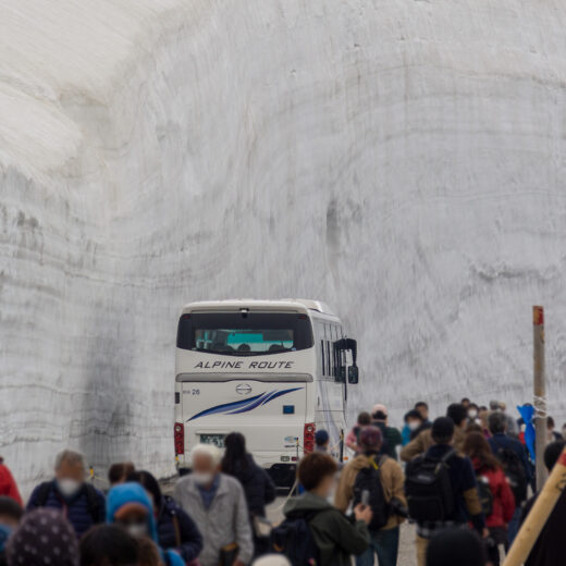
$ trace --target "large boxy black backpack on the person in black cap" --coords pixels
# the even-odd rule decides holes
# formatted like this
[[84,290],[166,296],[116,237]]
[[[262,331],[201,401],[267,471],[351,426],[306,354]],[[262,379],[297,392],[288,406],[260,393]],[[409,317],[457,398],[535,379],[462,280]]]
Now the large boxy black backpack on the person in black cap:
[[456,507],[448,460],[455,456],[447,452],[442,458],[418,456],[407,464],[405,493],[409,517],[418,522],[445,521]]

